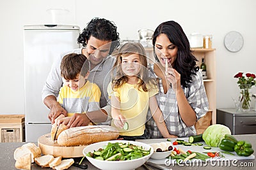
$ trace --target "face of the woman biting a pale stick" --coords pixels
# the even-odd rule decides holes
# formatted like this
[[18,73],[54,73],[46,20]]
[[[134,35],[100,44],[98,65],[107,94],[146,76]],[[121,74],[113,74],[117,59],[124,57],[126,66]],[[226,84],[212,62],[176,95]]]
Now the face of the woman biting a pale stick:
[[157,58],[161,65],[165,67],[165,62],[173,66],[174,61],[177,59],[177,46],[170,42],[166,34],[159,34],[156,38],[155,51]]

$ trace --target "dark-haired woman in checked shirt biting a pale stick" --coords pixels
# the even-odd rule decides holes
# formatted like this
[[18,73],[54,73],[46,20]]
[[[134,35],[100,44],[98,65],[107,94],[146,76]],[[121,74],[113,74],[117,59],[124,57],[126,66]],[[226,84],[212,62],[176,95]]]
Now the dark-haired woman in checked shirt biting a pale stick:
[[[156,96],[166,127],[173,138],[195,135],[195,122],[207,113],[209,103],[188,38],[177,22],[168,21],[156,28],[152,42],[157,62],[148,67],[158,79]],[[147,138],[163,138],[152,118],[147,134]]]

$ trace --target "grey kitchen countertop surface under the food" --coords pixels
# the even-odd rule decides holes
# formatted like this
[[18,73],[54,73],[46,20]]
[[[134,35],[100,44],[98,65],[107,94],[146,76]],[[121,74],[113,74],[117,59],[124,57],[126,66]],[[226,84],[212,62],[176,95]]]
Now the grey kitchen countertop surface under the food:
[[[250,143],[252,143],[252,148],[253,150],[256,151],[256,134],[242,134],[242,135],[235,135],[235,137],[237,138],[237,140],[246,140],[246,141],[250,141]],[[0,143],[0,164],[1,164],[1,169],[16,169],[15,168],[15,160],[13,159],[13,152],[16,148],[18,148],[19,146],[24,145],[24,143]],[[253,153],[253,155],[255,155],[255,152]],[[90,162],[88,162],[88,160],[84,160],[84,162],[86,162],[86,164],[88,164],[88,169],[97,169],[97,167],[94,167],[92,164],[90,164]],[[162,165],[163,166],[163,165]],[[208,162],[206,167],[207,170],[209,169],[255,169],[256,166],[256,160],[252,159],[252,160],[237,160],[237,162],[234,162],[232,164],[232,162],[230,162],[230,166],[228,166],[228,164],[223,164],[221,166],[221,164],[211,164],[211,162]],[[154,167],[151,167],[152,169],[157,169]],[[205,165],[202,164],[200,166],[196,166],[196,165],[191,165],[191,166],[179,166],[177,164],[171,165],[171,166],[166,166],[167,169],[196,169],[196,170],[200,170],[200,169],[205,169]],[[51,169],[51,168],[42,168],[40,166],[37,166],[36,164],[32,164],[31,169]],[[74,170],[74,169],[79,169],[81,170],[81,168],[79,167],[75,167],[75,166],[71,166],[69,168],[70,170]],[[145,170],[145,167],[141,166],[136,170]]]

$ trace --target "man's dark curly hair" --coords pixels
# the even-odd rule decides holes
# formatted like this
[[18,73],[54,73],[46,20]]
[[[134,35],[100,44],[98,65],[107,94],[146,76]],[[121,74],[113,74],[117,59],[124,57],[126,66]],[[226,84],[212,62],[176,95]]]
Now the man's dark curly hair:
[[81,43],[84,47],[87,45],[87,41],[93,36],[94,38],[100,39],[102,41],[111,40],[111,47],[109,54],[118,48],[119,43],[119,33],[116,32],[116,25],[104,18],[93,18],[83,29],[83,32],[79,34],[77,38],[77,43]]

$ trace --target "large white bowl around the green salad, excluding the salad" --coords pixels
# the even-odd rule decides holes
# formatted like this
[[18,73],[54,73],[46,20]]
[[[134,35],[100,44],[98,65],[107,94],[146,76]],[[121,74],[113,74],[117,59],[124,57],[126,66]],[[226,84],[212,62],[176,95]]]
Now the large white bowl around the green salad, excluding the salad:
[[[150,150],[150,153],[144,157],[138,158],[138,159],[133,159],[133,160],[120,160],[120,161],[106,161],[106,160],[98,160],[98,159],[93,159],[92,157],[86,156],[88,152],[94,152],[96,150],[99,150],[99,148],[103,148],[104,146],[108,145],[108,143],[131,143],[132,145],[137,145],[137,146],[142,146],[145,150]],[[88,159],[93,166],[98,167],[99,169],[119,169],[119,170],[130,170],[130,169],[136,169],[137,167],[142,166],[152,155],[154,152],[152,146],[141,143],[138,141],[124,141],[124,140],[115,140],[115,141],[102,141],[98,143],[93,143],[91,145],[86,146],[83,149],[83,154]]]

